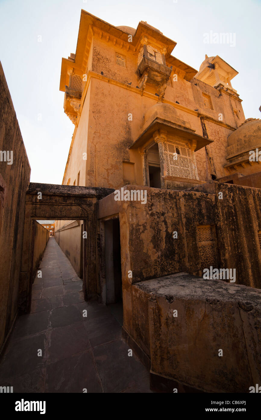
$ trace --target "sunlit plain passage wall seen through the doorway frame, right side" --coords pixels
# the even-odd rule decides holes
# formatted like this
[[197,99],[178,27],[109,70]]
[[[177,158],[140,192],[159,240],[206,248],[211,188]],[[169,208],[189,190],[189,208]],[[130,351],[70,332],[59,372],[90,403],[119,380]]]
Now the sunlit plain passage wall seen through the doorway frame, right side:
[[54,233],[54,238],[72,264],[77,275],[80,278],[83,278],[83,251],[81,249],[83,222],[80,220],[74,222],[65,220],[64,222],[67,222],[65,223],[66,226],[64,226],[62,230],[56,231]]

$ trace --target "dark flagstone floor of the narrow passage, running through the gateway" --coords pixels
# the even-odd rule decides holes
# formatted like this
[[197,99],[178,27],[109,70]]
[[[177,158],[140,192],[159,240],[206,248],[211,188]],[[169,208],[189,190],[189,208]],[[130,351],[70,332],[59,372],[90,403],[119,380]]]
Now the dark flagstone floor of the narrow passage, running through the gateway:
[[[85,302],[82,280],[54,237],[0,362],[13,392],[152,392],[149,373],[121,338],[122,307]],[[87,310],[87,317],[83,311]]]

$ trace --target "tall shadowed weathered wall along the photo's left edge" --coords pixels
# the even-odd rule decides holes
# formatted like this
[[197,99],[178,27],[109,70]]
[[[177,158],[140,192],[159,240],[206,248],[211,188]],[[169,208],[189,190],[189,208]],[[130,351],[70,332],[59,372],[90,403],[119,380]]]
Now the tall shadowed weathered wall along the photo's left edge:
[[0,162],[1,349],[18,310],[25,194],[31,172],[1,63],[0,150],[13,151],[11,165],[8,165],[8,162],[4,160]]

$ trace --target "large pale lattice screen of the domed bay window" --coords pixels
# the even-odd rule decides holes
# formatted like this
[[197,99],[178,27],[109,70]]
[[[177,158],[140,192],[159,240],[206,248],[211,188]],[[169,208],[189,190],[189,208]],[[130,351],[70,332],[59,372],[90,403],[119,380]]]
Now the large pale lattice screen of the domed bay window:
[[183,143],[164,142],[165,162],[169,176],[194,179],[191,150]]

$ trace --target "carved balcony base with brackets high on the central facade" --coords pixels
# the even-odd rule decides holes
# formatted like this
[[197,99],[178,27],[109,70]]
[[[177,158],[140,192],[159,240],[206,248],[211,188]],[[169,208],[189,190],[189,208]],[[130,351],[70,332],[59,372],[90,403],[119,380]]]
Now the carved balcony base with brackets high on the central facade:
[[135,74],[140,82],[139,87],[142,94],[148,83],[155,87],[159,95],[159,100],[161,101],[163,99],[167,82],[171,75],[171,68],[144,56],[140,61]]

